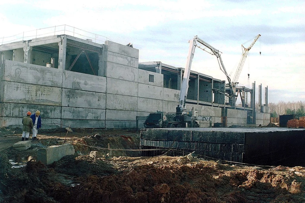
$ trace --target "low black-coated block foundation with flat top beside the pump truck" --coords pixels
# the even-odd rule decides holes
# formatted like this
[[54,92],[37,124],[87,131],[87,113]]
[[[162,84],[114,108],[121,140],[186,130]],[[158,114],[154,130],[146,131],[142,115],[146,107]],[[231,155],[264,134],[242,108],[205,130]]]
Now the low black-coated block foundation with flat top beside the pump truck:
[[175,149],[172,155],[195,151],[224,161],[285,166],[305,166],[304,145],[305,129],[291,128],[142,129],[140,142],[141,149]]

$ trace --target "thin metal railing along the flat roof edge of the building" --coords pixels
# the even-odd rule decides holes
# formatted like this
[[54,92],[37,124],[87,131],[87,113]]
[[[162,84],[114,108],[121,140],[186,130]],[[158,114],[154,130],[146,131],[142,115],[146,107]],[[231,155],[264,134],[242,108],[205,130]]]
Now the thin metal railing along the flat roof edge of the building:
[[88,31],[84,31],[76,27],[72,27],[69,25],[59,25],[54,27],[46,27],[46,28],[26,31],[9,37],[2,37],[0,38],[0,43],[1,43],[0,45],[11,42],[31,40],[34,38],[41,38],[41,37],[61,35],[61,34],[67,34],[81,39],[91,39],[92,42],[99,44],[104,43],[106,40],[110,40],[108,37]]

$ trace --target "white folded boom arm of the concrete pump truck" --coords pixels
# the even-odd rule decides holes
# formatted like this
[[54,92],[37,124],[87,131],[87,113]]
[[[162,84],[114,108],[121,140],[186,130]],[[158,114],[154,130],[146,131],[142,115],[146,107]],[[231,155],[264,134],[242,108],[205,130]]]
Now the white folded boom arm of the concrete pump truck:
[[[200,43],[201,45],[204,45],[205,48],[201,48],[201,45],[197,45],[197,42]],[[180,91],[180,98],[179,98],[179,102],[180,102],[180,106],[181,107],[185,107],[185,99],[188,93],[188,80],[190,77],[190,73],[191,73],[191,65],[192,65],[192,60],[194,58],[194,53],[195,53],[195,47],[198,47],[200,49],[202,49],[203,51],[206,51],[212,55],[215,55],[217,57],[218,60],[218,64],[219,67],[221,69],[222,72],[224,72],[224,74],[226,75],[228,82],[229,82],[229,86],[230,86],[230,93],[232,96],[235,96],[234,91],[233,91],[233,87],[231,84],[231,79],[228,76],[228,73],[226,71],[226,69],[224,68],[224,64],[222,62],[219,50],[215,49],[214,47],[212,47],[211,45],[209,45],[208,43],[204,42],[202,39],[198,38],[197,35],[190,40],[190,45],[189,45],[189,49],[188,49],[188,57],[186,60],[186,64],[185,64],[185,70],[184,70],[184,74],[183,74],[183,79],[182,79],[182,84],[181,84],[181,91]],[[208,48],[210,51],[206,50],[206,48]]]

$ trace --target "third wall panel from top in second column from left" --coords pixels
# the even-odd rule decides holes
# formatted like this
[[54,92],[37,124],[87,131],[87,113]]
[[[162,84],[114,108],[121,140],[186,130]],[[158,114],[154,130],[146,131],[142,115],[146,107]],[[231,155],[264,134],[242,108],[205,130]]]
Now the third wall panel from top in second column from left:
[[105,109],[62,107],[62,118],[80,120],[105,120]]

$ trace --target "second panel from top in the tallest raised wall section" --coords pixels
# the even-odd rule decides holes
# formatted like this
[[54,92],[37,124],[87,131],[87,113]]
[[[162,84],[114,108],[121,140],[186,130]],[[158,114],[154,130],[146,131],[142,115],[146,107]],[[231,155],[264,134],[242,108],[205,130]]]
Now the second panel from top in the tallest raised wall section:
[[113,63],[118,63],[118,64],[122,64],[125,66],[130,66],[130,67],[134,67],[137,68],[139,65],[139,59],[137,58],[133,58],[130,56],[125,56],[119,53],[113,53],[113,52],[109,52],[109,51],[105,51],[105,61],[109,61],[109,62],[113,62]]

